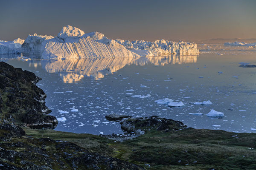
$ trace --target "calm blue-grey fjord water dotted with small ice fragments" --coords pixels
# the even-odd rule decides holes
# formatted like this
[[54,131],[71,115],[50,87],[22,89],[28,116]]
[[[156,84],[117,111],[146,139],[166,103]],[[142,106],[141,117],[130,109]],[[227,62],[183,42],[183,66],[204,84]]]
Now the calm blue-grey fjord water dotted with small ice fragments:
[[[55,130],[122,133],[118,122],[105,119],[110,113],[158,115],[194,128],[236,132],[254,132],[251,128],[256,128],[256,68],[240,68],[238,64],[255,64],[255,53],[70,60],[26,55],[1,55],[0,60],[42,78],[37,85],[47,94],[50,114],[67,119],[59,121]],[[131,97],[147,94],[150,97]],[[182,101],[185,106],[169,108],[154,102],[163,98]],[[212,105],[191,104],[207,100]],[[206,116],[211,109],[225,116]]]

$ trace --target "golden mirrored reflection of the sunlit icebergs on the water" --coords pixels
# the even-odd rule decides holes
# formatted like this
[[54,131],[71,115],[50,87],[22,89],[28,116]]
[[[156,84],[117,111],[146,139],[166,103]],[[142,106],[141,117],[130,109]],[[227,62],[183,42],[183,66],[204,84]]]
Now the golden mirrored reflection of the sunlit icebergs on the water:
[[[41,60],[42,67],[47,72],[58,72],[63,82],[72,83],[80,81],[84,76],[93,79],[102,79],[105,75],[112,74],[125,65],[154,64],[163,66],[166,64],[186,64],[197,62],[197,56],[169,57],[124,57],[124,58],[87,58],[67,60]],[[35,65],[31,63],[30,65]],[[36,64],[37,65],[37,64]]]

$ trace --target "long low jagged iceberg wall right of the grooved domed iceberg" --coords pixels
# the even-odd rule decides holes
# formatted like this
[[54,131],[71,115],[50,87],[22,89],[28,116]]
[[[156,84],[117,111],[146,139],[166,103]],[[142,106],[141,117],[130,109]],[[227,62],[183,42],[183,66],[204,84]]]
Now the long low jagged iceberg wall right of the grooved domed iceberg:
[[119,40],[116,42],[125,46],[125,48],[139,54],[140,56],[163,56],[170,54],[180,54],[180,55],[196,55],[199,54],[199,49],[197,44],[190,42],[172,42],[166,40],[156,40],[153,42],[144,40]]

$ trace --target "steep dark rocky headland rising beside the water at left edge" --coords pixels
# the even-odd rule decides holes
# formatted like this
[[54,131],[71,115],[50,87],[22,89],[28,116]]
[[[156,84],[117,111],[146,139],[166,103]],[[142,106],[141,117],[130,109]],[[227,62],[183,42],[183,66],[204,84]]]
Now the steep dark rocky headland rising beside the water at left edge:
[[46,94],[36,86],[41,78],[29,71],[0,62],[0,124],[15,123],[32,128],[57,126],[45,105]]

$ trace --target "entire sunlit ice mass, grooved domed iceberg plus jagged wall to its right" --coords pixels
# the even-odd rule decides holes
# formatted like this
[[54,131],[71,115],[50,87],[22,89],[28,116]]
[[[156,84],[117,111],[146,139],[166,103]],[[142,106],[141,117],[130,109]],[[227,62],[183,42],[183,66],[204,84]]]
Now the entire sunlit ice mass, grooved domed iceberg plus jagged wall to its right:
[[65,26],[57,37],[29,35],[22,51],[40,51],[44,59],[143,57],[169,54],[199,54],[197,44],[166,40],[110,40],[99,32],[84,34],[79,28]]

